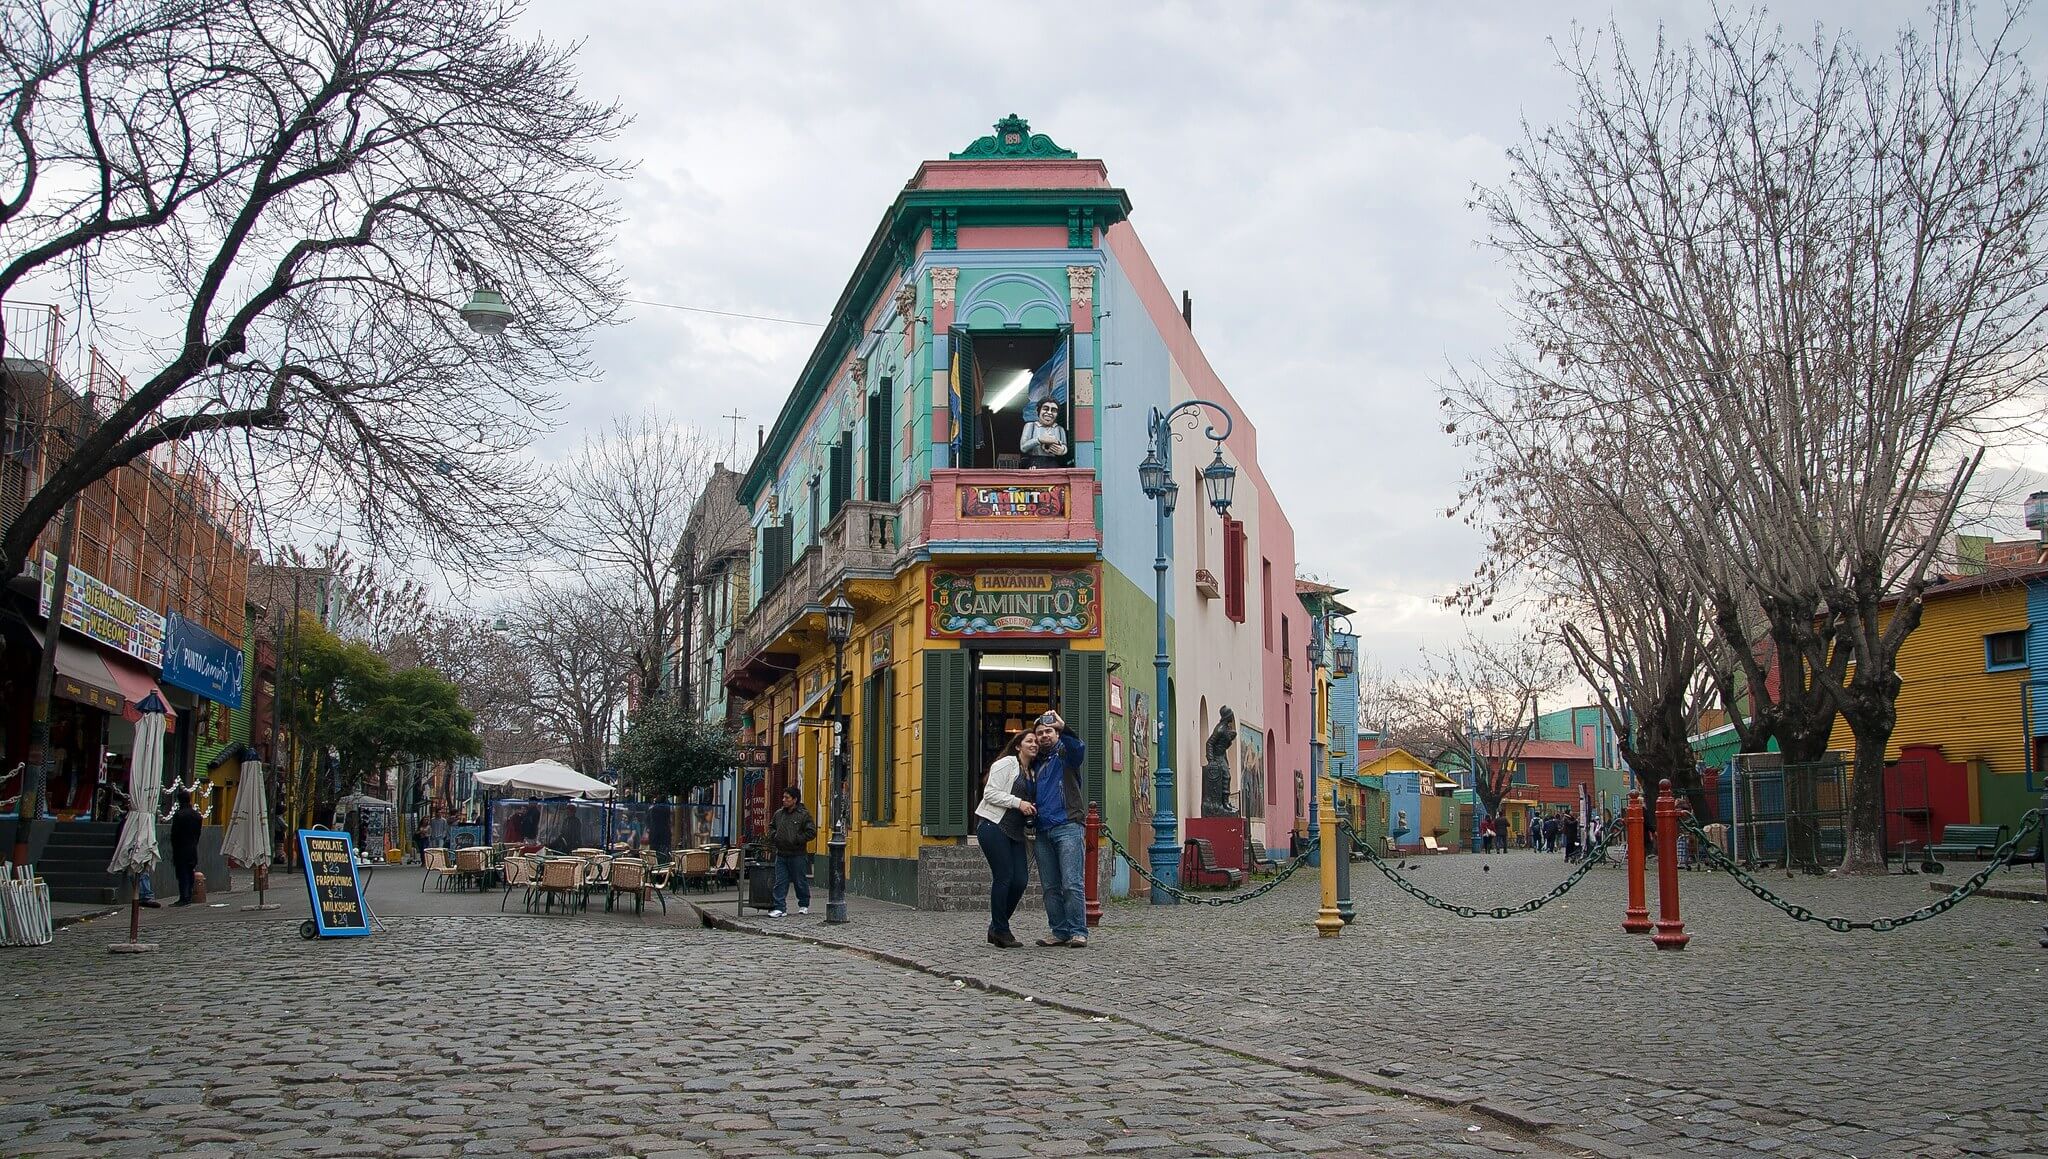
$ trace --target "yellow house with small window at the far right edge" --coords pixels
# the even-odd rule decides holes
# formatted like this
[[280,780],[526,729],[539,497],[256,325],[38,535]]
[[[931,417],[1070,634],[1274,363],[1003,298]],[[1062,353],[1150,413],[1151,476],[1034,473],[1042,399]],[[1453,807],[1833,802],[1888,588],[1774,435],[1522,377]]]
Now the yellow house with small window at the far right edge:
[[[1917,799],[1919,772],[1929,770],[1935,829],[1942,821],[2013,823],[2030,807],[2028,733],[2044,731],[2044,696],[2030,682],[2034,666],[2048,661],[2038,653],[2048,639],[2032,631],[2032,612],[2048,612],[2048,604],[2032,608],[2040,602],[2048,602],[2048,567],[1968,575],[1921,598],[1921,623],[1898,649],[1898,723],[1884,760],[1915,749],[1907,754],[1909,784],[1894,784],[1888,797]],[[1890,623],[1890,610],[1882,623]],[[1835,721],[1829,747],[1855,752],[1845,721]],[[1954,780],[1946,811],[1944,776]]]

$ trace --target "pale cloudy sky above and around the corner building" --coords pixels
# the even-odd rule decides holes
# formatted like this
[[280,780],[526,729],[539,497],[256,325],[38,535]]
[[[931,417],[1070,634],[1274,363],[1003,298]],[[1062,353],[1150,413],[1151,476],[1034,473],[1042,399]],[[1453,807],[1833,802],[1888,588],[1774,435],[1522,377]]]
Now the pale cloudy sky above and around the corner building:
[[[1462,631],[1434,600],[1479,553],[1444,518],[1460,463],[1434,387],[1503,342],[1470,188],[1503,176],[1524,119],[1565,115],[1552,41],[1614,16],[1647,47],[1710,16],[1618,8],[537,0],[528,25],[582,41],[586,88],[635,117],[618,141],[639,160],[618,190],[635,299],[823,319],[918,162],[1006,113],[1106,160],[1260,426],[1300,567],[1352,590],[1366,651],[1401,670]],[[1851,20],[1866,45],[1921,12],[1772,8],[1796,33]],[[721,438],[741,414],[752,444],[813,338],[633,305],[545,450],[637,412]]]

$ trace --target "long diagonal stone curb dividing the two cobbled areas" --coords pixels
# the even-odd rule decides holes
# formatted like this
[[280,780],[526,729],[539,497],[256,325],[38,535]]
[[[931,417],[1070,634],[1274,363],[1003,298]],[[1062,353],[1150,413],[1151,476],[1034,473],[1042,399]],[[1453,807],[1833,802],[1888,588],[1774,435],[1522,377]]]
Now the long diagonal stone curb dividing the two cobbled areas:
[[1571,1149],[1581,1151],[1581,1153],[1597,1155],[1599,1159],[1628,1159],[1632,1155],[1626,1149],[1616,1149],[1616,1147],[1612,1147],[1608,1143],[1602,1143],[1599,1139],[1593,1139],[1593,1136],[1583,1134],[1583,1132],[1554,1132],[1552,1130],[1554,1126],[1569,1126],[1569,1124],[1559,1122],[1554,1118],[1548,1118],[1542,1112],[1536,1112],[1532,1108],[1522,1108],[1518,1104],[1499,1102],[1499,1100],[1493,1100],[1489,1096],[1475,1096],[1475,1093],[1454,1091],[1454,1089],[1448,1089],[1448,1087],[1436,1087],[1436,1085],[1427,1085],[1427,1083],[1409,1083],[1409,1081],[1403,1081],[1403,1079],[1397,1079],[1397,1077],[1376,1075],[1376,1073],[1368,1073],[1368,1071],[1358,1071],[1358,1069],[1341,1067],[1341,1065],[1335,1065],[1335,1063],[1315,1063],[1311,1059],[1303,1059],[1300,1055],[1274,1055],[1274,1053],[1257,1050],[1257,1048],[1251,1048],[1251,1046],[1243,1046],[1239,1042],[1225,1042],[1221,1038],[1210,1038],[1206,1034],[1190,1034],[1186,1030],[1176,1030],[1176,1028],[1169,1028],[1169,1026],[1157,1026],[1157,1024],[1151,1024],[1151,1022],[1147,1022],[1143,1018],[1133,1018],[1128,1014],[1120,1014],[1120,1012],[1114,1012],[1114,1010],[1098,1010],[1098,1007],[1092,1007],[1092,1005],[1081,1005],[1077,1001],[1065,1001],[1065,999],[1057,999],[1057,997],[1044,997],[1044,995],[1026,993],[1026,991],[1014,989],[1014,987],[1004,985],[1004,983],[993,983],[993,981],[987,981],[987,979],[981,979],[981,977],[973,977],[973,975],[961,975],[961,973],[942,969],[942,967],[938,967],[934,962],[926,962],[922,958],[911,958],[907,954],[893,954],[889,950],[874,950],[874,948],[868,948],[868,946],[854,946],[850,942],[838,942],[834,938],[823,938],[823,936],[817,936],[817,934],[799,934],[795,930],[770,930],[766,926],[754,926],[750,921],[741,921],[737,917],[727,917],[723,913],[711,913],[709,909],[705,909],[702,905],[696,905],[694,901],[690,905],[696,909],[698,917],[702,917],[705,926],[713,928],[713,930],[727,930],[727,932],[733,932],[733,934],[754,934],[754,936],[760,936],[760,938],[782,938],[784,942],[803,942],[803,944],[819,946],[819,948],[825,948],[825,950],[840,950],[844,954],[854,954],[858,958],[868,958],[868,960],[874,960],[874,962],[883,962],[883,964],[891,964],[891,967],[901,967],[901,969],[907,969],[907,971],[918,971],[918,973],[924,973],[924,975],[932,975],[936,979],[946,979],[946,981],[952,981],[952,983],[961,983],[961,985],[967,985],[967,987],[973,987],[973,989],[979,989],[979,991],[985,991],[985,993],[993,993],[993,995],[999,995],[999,997],[1024,999],[1024,1001],[1030,1001],[1034,1005],[1042,1005],[1047,1010],[1057,1010],[1061,1014],[1075,1014],[1075,1016],[1081,1016],[1081,1018],[1104,1018],[1104,1020],[1112,1020],[1112,1022],[1122,1022],[1126,1026],[1135,1026],[1139,1030],[1145,1030],[1147,1034],[1157,1034],[1161,1038],[1171,1038],[1176,1042],[1188,1042],[1192,1046],[1206,1046],[1210,1050],[1223,1050],[1223,1053],[1229,1053],[1229,1055],[1237,1055],[1239,1059],[1249,1059],[1249,1061],[1255,1061],[1255,1063],[1266,1063],[1268,1067],[1280,1067],[1284,1071],[1296,1071],[1296,1073],[1303,1073],[1303,1075],[1315,1075],[1319,1079],[1331,1079],[1331,1081],[1337,1081],[1337,1083],[1348,1083],[1348,1085],[1362,1087],[1362,1089],[1378,1093],[1378,1096],[1401,1098],[1401,1100],[1415,1100],[1415,1102],[1430,1104],[1430,1106],[1440,1108],[1440,1110],[1462,1110],[1462,1112],[1473,1114],[1475,1118],[1487,1118],[1487,1120],[1491,1120],[1497,1128],[1505,1130],[1507,1134],[1520,1134],[1520,1136],[1526,1136],[1526,1139],[1542,1139],[1542,1141],[1548,1141],[1548,1143],[1563,1143],[1565,1147],[1571,1147]]

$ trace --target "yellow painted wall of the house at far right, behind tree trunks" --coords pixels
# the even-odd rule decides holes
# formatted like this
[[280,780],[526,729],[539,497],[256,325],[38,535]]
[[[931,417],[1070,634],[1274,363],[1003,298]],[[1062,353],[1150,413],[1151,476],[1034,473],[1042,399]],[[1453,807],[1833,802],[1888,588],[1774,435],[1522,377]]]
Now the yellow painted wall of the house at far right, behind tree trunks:
[[[2025,627],[2025,586],[1929,592],[1919,627],[1898,649],[1898,725],[1884,758],[1896,760],[1901,745],[1942,745],[1948,760],[2023,770],[2019,694],[2028,670],[1985,672],[1985,637]],[[1829,747],[1855,752],[1843,721],[1835,721]]]

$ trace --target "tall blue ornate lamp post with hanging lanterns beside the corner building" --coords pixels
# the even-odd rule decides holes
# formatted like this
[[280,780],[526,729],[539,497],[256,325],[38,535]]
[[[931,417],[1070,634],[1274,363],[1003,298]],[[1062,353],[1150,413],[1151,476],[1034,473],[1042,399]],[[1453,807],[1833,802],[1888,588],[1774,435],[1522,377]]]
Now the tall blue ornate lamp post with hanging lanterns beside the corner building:
[[[1153,610],[1157,614],[1159,643],[1153,653],[1153,672],[1157,676],[1153,684],[1153,727],[1157,729],[1157,760],[1153,768],[1157,772],[1153,774],[1153,844],[1147,850],[1147,860],[1151,862],[1153,878],[1176,889],[1180,887],[1180,819],[1174,805],[1176,788],[1165,727],[1167,713],[1174,711],[1167,700],[1165,561],[1174,553],[1174,502],[1180,498],[1180,483],[1174,481],[1174,420],[1182,414],[1198,416],[1200,407],[1210,407],[1223,416],[1221,434],[1214,426],[1202,430],[1217,450],[1208,467],[1202,467],[1202,489],[1208,491],[1208,504],[1217,508],[1217,514],[1229,514],[1237,469],[1223,461],[1223,440],[1231,436],[1233,418],[1221,403],[1188,399],[1167,412],[1153,407],[1145,428],[1149,446],[1145,461],[1139,463],[1139,483],[1145,487],[1145,498],[1159,512],[1159,555],[1153,557]],[[1176,905],[1176,901],[1165,889],[1153,889],[1153,905]]]

